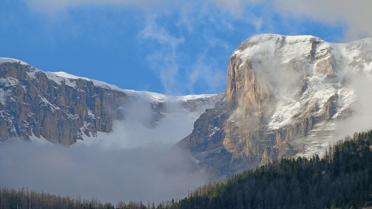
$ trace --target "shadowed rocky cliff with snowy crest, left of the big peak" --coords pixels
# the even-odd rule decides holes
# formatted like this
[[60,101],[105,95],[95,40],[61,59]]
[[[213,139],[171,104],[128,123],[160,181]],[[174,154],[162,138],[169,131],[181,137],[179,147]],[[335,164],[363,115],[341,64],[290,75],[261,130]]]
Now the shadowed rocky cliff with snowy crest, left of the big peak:
[[[144,107],[141,123],[154,128],[166,113],[203,112],[218,95],[171,97],[122,90],[63,72],[43,72],[29,64],[0,58],[0,142],[45,138],[70,146],[83,136],[111,132],[114,120],[128,118],[130,107]],[[148,111],[147,111],[148,110]],[[136,117],[135,115],[133,117]]]

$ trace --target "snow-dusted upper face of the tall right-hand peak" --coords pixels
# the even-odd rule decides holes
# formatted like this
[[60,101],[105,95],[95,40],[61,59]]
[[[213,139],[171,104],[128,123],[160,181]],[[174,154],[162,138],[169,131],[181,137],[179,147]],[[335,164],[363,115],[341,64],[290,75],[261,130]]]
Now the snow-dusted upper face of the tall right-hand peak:
[[[372,38],[334,44],[314,36],[262,34],[240,47],[246,48],[233,55],[241,59],[241,66],[247,59],[260,60],[260,70],[278,100],[268,119],[268,129],[296,125],[298,115],[311,105],[316,106],[315,116],[321,117],[327,111],[323,106],[336,95],[334,115],[329,121],[315,124],[298,143],[306,141],[304,155],[323,151],[338,131],[337,122],[350,116],[357,99],[350,86],[353,78],[358,75],[372,80]],[[301,80],[305,83],[298,85]],[[306,87],[300,94],[303,85]]]

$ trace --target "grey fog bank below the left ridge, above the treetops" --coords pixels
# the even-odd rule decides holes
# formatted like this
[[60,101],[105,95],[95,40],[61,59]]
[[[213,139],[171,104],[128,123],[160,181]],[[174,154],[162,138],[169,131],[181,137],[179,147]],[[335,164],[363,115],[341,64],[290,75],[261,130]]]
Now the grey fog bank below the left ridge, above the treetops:
[[185,152],[162,147],[106,149],[63,148],[16,141],[0,147],[0,185],[82,198],[120,200],[180,199],[208,182],[193,173]]

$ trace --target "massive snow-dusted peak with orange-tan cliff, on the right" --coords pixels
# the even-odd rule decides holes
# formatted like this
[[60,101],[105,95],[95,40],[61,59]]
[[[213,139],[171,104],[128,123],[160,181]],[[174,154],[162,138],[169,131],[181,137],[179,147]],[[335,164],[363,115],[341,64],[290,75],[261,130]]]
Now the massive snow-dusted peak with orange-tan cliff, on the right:
[[[230,57],[225,95],[177,143],[201,169],[231,175],[280,158],[320,152],[371,79],[372,38],[333,44],[314,36],[262,34]],[[365,89],[363,89],[365,92]]]

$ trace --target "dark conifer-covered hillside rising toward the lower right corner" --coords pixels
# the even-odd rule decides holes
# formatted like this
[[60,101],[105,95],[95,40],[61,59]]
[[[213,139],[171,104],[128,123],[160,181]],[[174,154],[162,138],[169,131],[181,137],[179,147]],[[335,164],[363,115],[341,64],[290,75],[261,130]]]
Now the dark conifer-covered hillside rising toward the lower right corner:
[[176,208],[321,209],[372,205],[372,130],[347,136],[322,159],[281,159],[204,185]]

